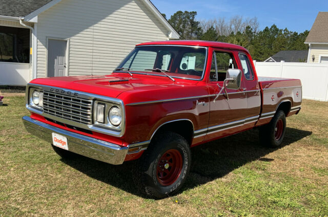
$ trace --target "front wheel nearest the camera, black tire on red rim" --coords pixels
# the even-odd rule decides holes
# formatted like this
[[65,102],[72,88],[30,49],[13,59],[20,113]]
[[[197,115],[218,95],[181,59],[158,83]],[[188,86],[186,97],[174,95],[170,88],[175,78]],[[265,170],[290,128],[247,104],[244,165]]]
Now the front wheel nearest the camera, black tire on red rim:
[[[165,160],[170,158],[169,162]],[[161,199],[172,196],[182,187],[190,166],[191,151],[186,139],[176,133],[162,133],[152,140],[138,160],[133,179],[142,193]]]

